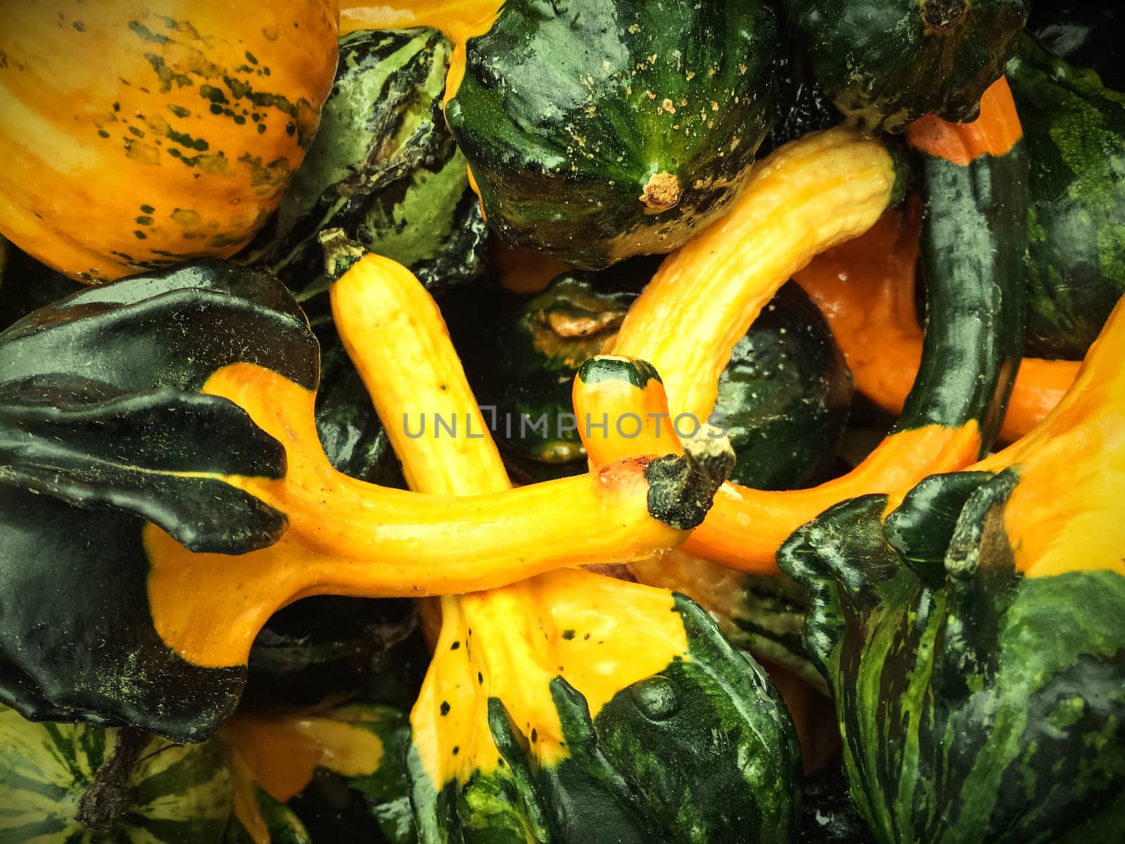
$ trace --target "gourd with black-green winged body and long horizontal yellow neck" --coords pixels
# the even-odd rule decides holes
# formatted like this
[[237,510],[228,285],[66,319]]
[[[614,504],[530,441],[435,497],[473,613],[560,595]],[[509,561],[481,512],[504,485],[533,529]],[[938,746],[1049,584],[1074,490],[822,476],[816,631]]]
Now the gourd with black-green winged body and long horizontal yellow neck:
[[350,478],[317,439],[304,315],[222,261],[36,311],[0,334],[0,583],[21,596],[0,619],[0,697],[174,740],[231,713],[254,635],[297,598],[646,556],[682,542],[719,483],[691,452],[465,499]]

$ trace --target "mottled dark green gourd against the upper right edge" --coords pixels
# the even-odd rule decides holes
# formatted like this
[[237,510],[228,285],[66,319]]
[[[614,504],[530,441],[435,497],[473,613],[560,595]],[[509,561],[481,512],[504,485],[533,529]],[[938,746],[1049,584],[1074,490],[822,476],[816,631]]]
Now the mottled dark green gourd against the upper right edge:
[[1080,360],[1125,293],[1125,93],[1030,37],[1008,78],[1032,161],[1027,350]]

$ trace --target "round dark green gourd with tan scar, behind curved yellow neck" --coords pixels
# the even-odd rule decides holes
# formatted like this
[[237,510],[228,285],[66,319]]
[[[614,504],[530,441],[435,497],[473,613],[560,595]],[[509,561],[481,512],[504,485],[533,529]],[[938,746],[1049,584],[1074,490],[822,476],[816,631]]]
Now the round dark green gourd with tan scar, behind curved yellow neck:
[[[622,264],[619,264],[622,266]],[[500,321],[486,397],[494,430],[516,454],[585,470],[570,385],[582,363],[612,348],[642,279],[615,270],[556,278]],[[783,286],[736,344],[719,376],[713,419],[735,449],[731,481],[789,490],[822,481],[847,421],[852,380],[831,332],[795,285]],[[684,436],[696,421],[668,419]]]

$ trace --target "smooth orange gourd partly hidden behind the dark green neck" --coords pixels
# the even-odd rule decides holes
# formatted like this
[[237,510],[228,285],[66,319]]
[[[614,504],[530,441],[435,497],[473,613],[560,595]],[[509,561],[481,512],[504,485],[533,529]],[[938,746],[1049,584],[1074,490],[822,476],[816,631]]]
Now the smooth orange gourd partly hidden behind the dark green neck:
[[[915,306],[920,205],[888,210],[866,233],[812,259],[793,278],[831,325],[856,389],[899,416],[918,375],[922,329]],[[1078,362],[1023,358],[1000,425],[1018,440],[1074,381]]]

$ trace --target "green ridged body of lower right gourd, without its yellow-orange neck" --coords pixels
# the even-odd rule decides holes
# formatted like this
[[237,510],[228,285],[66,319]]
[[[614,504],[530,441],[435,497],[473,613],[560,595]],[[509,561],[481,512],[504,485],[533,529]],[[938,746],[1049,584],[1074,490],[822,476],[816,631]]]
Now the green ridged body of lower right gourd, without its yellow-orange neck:
[[1120,829],[1125,576],[1016,573],[997,519],[1016,483],[934,476],[885,524],[885,496],[856,499],[780,553],[813,591],[806,644],[880,842]]

